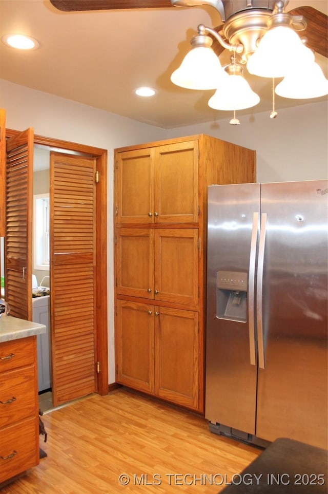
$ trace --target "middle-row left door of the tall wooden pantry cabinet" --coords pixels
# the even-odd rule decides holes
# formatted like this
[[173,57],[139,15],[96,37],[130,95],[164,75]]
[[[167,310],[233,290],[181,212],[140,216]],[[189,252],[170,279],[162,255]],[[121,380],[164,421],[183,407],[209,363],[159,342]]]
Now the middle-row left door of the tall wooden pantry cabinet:
[[154,232],[147,228],[116,231],[117,293],[154,298]]

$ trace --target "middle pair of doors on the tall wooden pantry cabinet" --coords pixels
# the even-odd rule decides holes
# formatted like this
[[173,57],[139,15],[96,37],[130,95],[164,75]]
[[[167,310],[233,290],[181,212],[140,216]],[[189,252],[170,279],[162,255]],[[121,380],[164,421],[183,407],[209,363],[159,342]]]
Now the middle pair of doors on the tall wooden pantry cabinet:
[[198,306],[198,229],[118,228],[117,293]]

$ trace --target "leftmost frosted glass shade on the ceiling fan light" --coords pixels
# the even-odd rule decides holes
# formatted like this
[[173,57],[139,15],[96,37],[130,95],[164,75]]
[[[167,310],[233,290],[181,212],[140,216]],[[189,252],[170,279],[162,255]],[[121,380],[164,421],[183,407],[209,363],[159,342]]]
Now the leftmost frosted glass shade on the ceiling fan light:
[[192,48],[171,75],[171,81],[187,89],[216,89],[224,77],[219,59],[210,47]]

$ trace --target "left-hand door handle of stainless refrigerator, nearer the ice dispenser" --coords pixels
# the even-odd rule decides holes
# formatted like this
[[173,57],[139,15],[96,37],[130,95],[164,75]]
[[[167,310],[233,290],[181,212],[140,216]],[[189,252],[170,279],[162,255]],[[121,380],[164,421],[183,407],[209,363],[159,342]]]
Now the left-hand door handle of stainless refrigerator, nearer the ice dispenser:
[[258,225],[259,225],[259,213],[253,213],[253,226],[252,226],[251,252],[250,252],[250,269],[249,269],[249,282],[248,282],[248,320],[249,320],[249,340],[250,340],[251,365],[256,365],[254,295],[255,295],[255,265],[256,265],[256,245],[257,245]]

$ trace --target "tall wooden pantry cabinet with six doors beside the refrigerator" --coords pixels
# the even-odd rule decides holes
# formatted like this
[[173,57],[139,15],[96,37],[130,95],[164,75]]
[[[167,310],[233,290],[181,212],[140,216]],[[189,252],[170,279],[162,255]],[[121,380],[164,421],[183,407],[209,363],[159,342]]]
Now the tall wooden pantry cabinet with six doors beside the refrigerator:
[[117,383],[203,412],[207,186],[255,166],[206,135],[115,149]]

